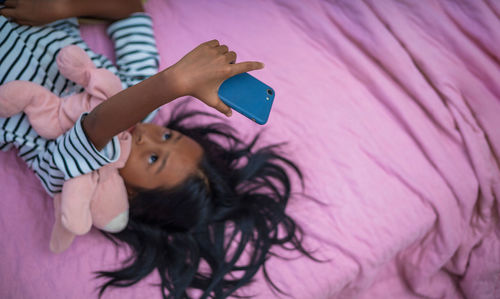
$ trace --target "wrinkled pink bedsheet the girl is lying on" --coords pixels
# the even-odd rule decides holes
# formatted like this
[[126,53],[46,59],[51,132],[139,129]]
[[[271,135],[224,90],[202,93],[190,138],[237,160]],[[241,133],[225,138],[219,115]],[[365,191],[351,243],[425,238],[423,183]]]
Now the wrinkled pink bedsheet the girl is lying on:
[[[265,142],[288,141],[309,194],[292,201],[327,263],[271,259],[294,298],[500,298],[498,1],[160,1],[162,67],[217,38],[277,97]],[[84,36],[111,53],[100,26]],[[204,108],[194,102],[196,108]],[[168,107],[159,119],[165,117]],[[261,127],[234,115],[250,136]],[[0,298],[94,298],[126,256],[98,232],[48,249],[52,203],[0,153]],[[104,298],[161,298],[156,274]],[[262,276],[241,290],[272,298]]]

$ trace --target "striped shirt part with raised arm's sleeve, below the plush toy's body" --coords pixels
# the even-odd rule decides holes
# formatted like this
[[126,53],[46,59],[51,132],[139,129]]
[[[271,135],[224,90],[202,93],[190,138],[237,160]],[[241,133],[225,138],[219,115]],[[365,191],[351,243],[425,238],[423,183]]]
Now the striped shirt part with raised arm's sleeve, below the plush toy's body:
[[54,195],[62,191],[66,180],[92,172],[120,157],[117,137],[98,151],[83,131],[81,120],[55,140],[40,137],[29,125],[26,114],[0,118],[0,150],[11,146],[35,172],[45,190]]

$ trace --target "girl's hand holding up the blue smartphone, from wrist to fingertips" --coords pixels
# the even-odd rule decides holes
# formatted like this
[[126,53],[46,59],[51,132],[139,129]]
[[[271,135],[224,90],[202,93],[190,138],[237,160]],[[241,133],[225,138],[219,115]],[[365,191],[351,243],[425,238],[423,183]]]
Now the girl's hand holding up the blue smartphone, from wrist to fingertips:
[[172,73],[180,96],[190,95],[226,116],[231,116],[231,108],[224,104],[217,92],[224,80],[253,70],[262,69],[261,62],[236,63],[236,53],[217,40],[205,42],[168,68]]

